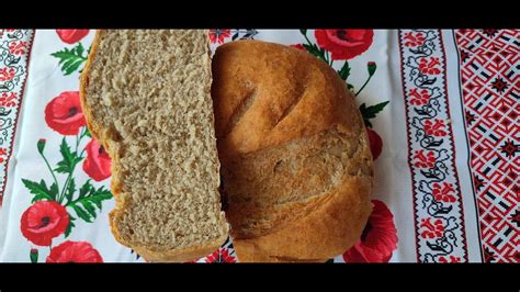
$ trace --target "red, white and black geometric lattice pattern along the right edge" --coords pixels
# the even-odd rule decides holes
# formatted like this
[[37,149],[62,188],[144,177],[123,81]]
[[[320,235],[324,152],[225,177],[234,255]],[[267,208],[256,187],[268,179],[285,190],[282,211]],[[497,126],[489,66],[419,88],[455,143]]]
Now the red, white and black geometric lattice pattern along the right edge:
[[456,30],[483,259],[520,262],[518,30]]

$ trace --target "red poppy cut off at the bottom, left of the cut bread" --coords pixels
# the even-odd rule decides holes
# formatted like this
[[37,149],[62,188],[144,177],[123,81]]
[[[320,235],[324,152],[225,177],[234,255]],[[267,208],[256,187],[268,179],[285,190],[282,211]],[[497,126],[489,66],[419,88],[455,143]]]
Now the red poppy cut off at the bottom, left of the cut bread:
[[67,240],[50,250],[46,262],[103,262],[103,258],[87,242]]

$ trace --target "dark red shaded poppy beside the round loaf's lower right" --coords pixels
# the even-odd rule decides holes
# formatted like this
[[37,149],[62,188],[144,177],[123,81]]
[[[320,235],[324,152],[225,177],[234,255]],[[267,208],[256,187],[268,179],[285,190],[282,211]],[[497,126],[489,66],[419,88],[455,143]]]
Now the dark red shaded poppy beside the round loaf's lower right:
[[385,203],[372,200],[374,209],[359,240],[343,254],[346,262],[388,262],[397,248],[394,215]]

